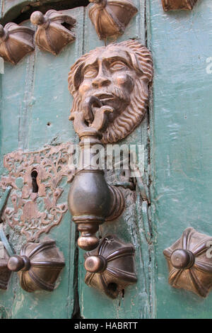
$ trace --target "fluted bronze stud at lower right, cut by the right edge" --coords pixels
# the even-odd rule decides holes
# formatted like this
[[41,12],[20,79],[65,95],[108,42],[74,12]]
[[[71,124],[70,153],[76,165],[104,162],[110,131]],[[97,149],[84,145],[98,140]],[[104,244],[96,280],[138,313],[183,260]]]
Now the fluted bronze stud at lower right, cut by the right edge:
[[163,252],[170,271],[170,285],[206,297],[212,287],[211,246],[212,237],[192,227],[184,230],[182,237]]

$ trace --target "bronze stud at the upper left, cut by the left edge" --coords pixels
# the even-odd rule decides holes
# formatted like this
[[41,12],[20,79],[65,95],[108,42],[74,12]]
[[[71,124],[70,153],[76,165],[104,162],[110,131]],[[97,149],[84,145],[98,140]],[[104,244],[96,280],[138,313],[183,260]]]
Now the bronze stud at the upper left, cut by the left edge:
[[25,55],[35,50],[33,42],[35,31],[10,22],[0,25],[0,56],[6,62],[17,64]]

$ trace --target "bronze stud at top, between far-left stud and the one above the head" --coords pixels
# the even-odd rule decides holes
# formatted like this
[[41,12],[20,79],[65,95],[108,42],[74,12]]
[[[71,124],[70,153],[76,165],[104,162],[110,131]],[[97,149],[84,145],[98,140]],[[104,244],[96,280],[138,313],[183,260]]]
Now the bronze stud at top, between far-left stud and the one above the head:
[[35,43],[40,50],[58,55],[66,45],[75,40],[72,30],[76,19],[70,15],[50,9],[45,15],[40,11],[35,11],[30,20],[38,26],[35,33]]

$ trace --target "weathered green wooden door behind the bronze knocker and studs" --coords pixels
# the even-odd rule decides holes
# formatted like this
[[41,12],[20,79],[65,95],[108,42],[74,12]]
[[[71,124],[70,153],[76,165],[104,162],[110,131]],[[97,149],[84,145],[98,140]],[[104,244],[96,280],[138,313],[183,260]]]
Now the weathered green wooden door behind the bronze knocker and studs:
[[[86,1],[59,2],[55,1],[54,9],[66,10],[76,18],[75,42],[57,57],[36,47],[16,66],[5,63],[4,74],[0,74],[1,176],[7,173],[3,164],[6,154],[78,142],[72,123],[67,121],[72,103],[67,88],[69,69],[83,53],[104,42],[98,39],[88,18]],[[128,186],[121,184],[124,213],[102,225],[99,235],[111,233],[134,244],[138,282],[116,300],[86,286],[83,251],[76,247],[76,227],[66,212],[59,225],[47,235],[40,235],[40,240],[46,236],[55,239],[64,253],[66,266],[57,288],[52,293],[27,293],[13,274],[8,290],[0,291],[1,317],[210,317],[211,295],[202,300],[169,286],[163,249],[186,227],[211,233],[211,75],[207,74],[206,62],[212,56],[211,1],[199,0],[193,11],[172,13],[164,13],[159,0],[134,0],[134,4],[139,12],[118,41],[135,39],[147,45],[153,55],[154,81],[149,113],[123,143],[144,145],[143,181],[148,187],[148,200],[142,198],[139,179],[129,179]],[[29,26],[28,13],[39,6],[30,0],[2,0],[1,22]],[[53,5],[44,6],[50,9]],[[117,178],[112,175],[114,183],[120,181]],[[22,186],[18,179],[17,191]],[[62,179],[61,203],[66,202],[69,186],[66,178]],[[0,191],[1,196],[4,189]],[[18,252],[25,235],[8,225],[5,231]]]

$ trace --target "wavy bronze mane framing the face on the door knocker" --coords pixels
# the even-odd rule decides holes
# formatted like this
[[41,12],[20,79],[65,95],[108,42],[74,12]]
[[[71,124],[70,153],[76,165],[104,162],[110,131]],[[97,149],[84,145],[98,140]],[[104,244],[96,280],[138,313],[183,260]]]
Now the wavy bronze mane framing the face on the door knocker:
[[[129,106],[110,123],[107,130],[102,135],[102,142],[112,143],[124,139],[129,135],[143,120],[148,106],[148,86],[153,79],[153,62],[151,53],[148,49],[136,40],[127,40],[122,43],[115,43],[106,46],[107,48],[121,47],[129,54],[132,67],[137,73],[134,89],[131,92]],[[105,50],[106,47],[98,47],[80,57],[71,67],[69,72],[69,91],[73,96],[71,115],[81,111],[81,98],[78,96],[78,87],[81,84],[81,70],[86,59],[96,50]]]

